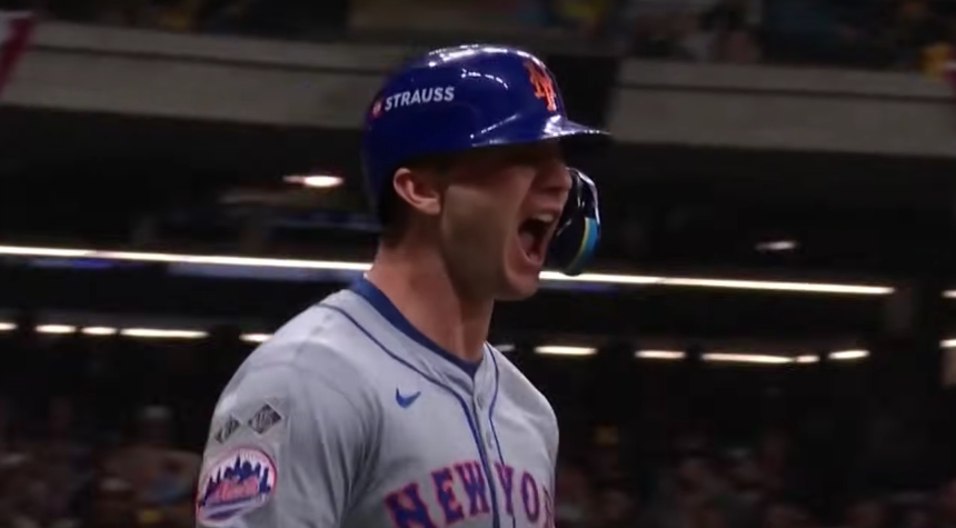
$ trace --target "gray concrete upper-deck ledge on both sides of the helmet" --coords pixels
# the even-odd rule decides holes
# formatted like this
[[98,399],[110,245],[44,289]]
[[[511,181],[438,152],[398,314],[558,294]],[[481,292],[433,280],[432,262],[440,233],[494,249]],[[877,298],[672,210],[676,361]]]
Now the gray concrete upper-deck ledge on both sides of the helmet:
[[[624,145],[956,157],[949,88],[913,72],[530,49],[551,64],[572,116],[606,126]],[[44,23],[4,100],[355,131],[382,76],[421,51]]]

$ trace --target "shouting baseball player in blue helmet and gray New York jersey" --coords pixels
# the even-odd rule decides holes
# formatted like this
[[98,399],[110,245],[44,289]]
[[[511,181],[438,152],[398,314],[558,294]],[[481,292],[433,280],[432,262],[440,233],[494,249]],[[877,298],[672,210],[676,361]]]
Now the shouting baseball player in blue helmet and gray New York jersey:
[[512,48],[440,49],[390,77],[362,137],[382,223],[372,267],[232,377],[199,525],[552,526],[555,414],[486,339],[496,300],[594,251],[597,191],[562,151],[604,137]]

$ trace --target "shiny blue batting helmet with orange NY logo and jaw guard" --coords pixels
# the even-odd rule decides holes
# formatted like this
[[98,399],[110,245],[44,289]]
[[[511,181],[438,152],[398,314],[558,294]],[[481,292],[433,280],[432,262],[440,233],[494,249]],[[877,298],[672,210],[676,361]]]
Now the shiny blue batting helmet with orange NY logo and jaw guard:
[[[435,155],[558,139],[567,148],[607,133],[568,119],[545,63],[515,48],[467,44],[426,53],[392,74],[366,114],[361,160],[376,208],[395,171]],[[549,248],[549,265],[579,273],[600,232],[597,189],[580,171]]]

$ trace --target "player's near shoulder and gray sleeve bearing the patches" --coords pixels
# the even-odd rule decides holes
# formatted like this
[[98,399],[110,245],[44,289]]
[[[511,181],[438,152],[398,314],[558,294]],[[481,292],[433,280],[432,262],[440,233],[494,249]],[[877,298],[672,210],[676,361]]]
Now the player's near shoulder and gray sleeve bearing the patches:
[[200,524],[286,526],[318,516],[320,526],[337,526],[381,445],[382,409],[361,359],[369,348],[341,315],[312,307],[246,359],[213,411]]

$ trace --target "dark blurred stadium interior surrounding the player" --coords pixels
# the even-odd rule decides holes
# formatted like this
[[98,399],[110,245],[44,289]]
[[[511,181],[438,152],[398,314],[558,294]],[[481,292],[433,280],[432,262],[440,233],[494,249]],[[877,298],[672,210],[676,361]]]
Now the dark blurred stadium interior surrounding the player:
[[374,251],[370,93],[462,40],[620,140],[599,275],[494,322],[560,528],[956,524],[950,2],[0,7],[0,526],[191,526],[219,390]]

